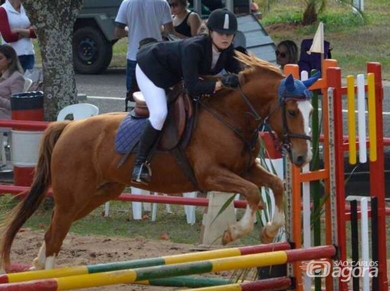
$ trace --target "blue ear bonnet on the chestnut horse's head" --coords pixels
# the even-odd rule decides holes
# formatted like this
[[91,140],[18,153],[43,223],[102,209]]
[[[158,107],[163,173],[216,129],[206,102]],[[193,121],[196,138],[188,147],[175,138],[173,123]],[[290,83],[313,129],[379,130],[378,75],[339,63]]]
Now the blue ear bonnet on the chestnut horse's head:
[[285,102],[287,99],[295,100],[308,100],[313,94],[308,89],[316,80],[319,79],[321,73],[318,71],[312,77],[305,81],[294,80],[291,74],[282,79],[277,89],[277,96],[280,104]]

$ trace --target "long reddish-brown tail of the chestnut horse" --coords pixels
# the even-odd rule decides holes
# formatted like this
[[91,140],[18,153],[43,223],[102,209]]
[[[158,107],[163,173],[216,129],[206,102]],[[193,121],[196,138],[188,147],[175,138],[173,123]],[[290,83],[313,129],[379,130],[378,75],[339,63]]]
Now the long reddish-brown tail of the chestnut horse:
[[46,197],[46,192],[51,182],[51,153],[56,141],[67,124],[67,121],[53,122],[44,131],[32,185],[29,190],[19,194],[20,196],[26,196],[9,214],[7,214],[7,218],[0,225],[0,259],[1,267],[5,267],[5,269],[9,267],[10,264],[9,255],[16,233]]

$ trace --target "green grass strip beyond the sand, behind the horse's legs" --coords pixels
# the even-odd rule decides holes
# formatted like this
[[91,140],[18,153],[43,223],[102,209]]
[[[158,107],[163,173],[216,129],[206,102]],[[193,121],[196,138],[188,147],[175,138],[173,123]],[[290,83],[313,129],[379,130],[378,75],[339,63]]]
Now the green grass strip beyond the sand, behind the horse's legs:
[[[0,216],[15,205],[15,200],[10,195],[0,197]],[[204,208],[196,208],[196,224],[186,223],[182,206],[171,205],[172,214],[167,214],[165,205],[158,204],[157,219],[151,222],[150,216],[145,220],[132,220],[131,203],[111,201],[110,216],[103,217],[104,205],[98,207],[85,218],[75,222],[70,232],[79,235],[104,235],[116,237],[145,237],[152,240],[161,240],[166,234],[174,243],[198,244],[200,242],[200,229]],[[244,210],[238,210],[237,216],[241,217]],[[145,214],[145,212],[144,212]],[[37,212],[27,221],[24,227],[32,230],[46,230],[51,216],[51,208],[41,206]],[[221,234],[222,234],[221,230]],[[258,244],[259,227],[251,235],[241,239],[241,244]]]

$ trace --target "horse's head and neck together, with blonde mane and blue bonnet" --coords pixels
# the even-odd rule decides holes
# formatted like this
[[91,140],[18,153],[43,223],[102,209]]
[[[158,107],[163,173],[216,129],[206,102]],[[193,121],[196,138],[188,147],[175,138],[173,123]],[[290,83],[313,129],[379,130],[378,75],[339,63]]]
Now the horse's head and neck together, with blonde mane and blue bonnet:
[[306,81],[294,80],[292,75],[284,78],[273,64],[252,54],[236,54],[245,66],[238,75],[241,99],[247,98],[243,104],[252,105],[251,108],[246,106],[246,110],[249,109],[255,120],[269,123],[292,163],[297,166],[308,163],[312,155],[309,127],[312,93],[308,87],[319,78],[319,73]]

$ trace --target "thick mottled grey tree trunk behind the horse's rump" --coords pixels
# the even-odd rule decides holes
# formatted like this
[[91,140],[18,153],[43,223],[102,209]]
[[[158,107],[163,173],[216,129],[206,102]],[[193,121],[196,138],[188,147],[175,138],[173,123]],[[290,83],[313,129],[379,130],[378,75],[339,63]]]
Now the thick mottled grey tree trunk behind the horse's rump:
[[84,0],[22,0],[38,37],[43,67],[44,118],[76,103],[73,70],[73,24]]

